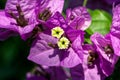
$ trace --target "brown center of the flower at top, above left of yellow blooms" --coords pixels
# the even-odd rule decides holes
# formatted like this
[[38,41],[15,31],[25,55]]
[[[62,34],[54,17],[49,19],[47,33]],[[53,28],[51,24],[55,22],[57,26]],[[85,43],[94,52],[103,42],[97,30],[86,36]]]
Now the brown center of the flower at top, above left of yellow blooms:
[[39,19],[41,20],[48,20],[51,17],[52,13],[50,12],[49,9],[45,9],[43,12],[39,14]]

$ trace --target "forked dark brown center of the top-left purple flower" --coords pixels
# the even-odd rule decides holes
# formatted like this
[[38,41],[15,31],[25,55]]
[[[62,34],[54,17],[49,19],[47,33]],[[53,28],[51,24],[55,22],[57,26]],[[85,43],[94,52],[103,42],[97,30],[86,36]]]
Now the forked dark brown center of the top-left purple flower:
[[16,8],[17,8],[19,17],[16,17],[15,14],[12,13],[12,11],[9,11],[8,13],[11,15],[12,18],[16,20],[17,25],[21,27],[25,27],[26,25],[28,25],[28,21],[25,19],[23,11],[19,4],[16,5]]

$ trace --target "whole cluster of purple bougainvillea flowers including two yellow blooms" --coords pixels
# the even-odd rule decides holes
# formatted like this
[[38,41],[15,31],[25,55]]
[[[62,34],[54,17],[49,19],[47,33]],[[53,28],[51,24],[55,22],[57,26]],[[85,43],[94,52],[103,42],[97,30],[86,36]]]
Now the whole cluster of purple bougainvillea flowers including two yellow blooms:
[[[8,0],[5,10],[0,10],[0,40],[20,35],[33,41],[28,59],[47,66],[47,72],[43,70],[43,76],[28,73],[28,80],[66,80],[69,76],[73,80],[104,80],[120,56],[120,5],[113,9],[110,33],[94,33],[92,44],[84,43],[85,30],[91,24],[87,9],[67,9],[64,17],[63,5],[64,0]],[[71,75],[65,76],[63,67],[69,68]],[[48,73],[51,75],[46,77]]]

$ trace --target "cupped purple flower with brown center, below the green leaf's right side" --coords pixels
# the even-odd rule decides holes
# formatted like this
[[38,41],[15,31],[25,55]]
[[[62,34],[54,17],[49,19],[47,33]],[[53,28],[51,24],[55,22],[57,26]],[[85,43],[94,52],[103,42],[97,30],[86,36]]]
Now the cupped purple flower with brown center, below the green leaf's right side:
[[114,52],[110,35],[108,34],[104,37],[99,33],[95,33],[91,36],[91,40],[99,54],[100,66],[103,73],[106,76],[111,75],[118,60],[118,56]]

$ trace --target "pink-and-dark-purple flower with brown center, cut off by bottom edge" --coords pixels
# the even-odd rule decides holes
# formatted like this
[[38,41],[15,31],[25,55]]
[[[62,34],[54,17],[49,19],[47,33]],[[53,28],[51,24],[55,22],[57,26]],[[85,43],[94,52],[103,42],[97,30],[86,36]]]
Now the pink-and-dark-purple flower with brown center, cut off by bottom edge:
[[100,68],[99,57],[93,45],[85,44],[83,47],[83,63],[70,69],[73,80],[104,80],[105,75]]

